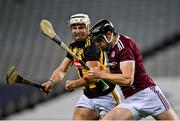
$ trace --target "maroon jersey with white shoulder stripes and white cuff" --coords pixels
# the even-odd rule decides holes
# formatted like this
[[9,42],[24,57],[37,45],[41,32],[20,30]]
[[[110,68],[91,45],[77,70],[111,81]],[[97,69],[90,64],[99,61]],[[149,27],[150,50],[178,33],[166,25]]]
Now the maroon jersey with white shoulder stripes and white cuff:
[[134,40],[120,35],[115,45],[108,53],[108,65],[111,73],[121,73],[120,62],[135,61],[135,75],[132,86],[122,86],[121,90],[125,98],[134,93],[145,89],[146,87],[155,86],[154,81],[146,73],[143,59],[139,47]]

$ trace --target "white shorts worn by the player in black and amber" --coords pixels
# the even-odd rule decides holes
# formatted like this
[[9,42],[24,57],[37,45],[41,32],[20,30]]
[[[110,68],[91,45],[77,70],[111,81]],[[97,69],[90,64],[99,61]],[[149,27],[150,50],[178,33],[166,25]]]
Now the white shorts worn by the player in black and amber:
[[89,108],[96,111],[99,116],[104,116],[111,109],[116,107],[119,102],[120,95],[118,90],[115,88],[111,93],[97,98],[90,99],[82,94],[75,107]]

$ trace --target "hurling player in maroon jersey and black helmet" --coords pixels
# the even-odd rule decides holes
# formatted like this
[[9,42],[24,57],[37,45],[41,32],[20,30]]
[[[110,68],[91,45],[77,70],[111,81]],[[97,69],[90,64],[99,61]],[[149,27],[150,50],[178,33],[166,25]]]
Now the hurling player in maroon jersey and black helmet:
[[95,44],[107,52],[109,72],[91,69],[87,78],[105,79],[121,87],[125,101],[103,120],[178,120],[161,89],[147,74],[136,42],[115,32],[112,23],[100,20],[91,29]]

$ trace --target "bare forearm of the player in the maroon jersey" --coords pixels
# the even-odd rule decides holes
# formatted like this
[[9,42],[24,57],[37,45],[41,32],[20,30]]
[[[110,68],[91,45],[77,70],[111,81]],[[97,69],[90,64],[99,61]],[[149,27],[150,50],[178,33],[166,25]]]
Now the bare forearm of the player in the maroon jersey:
[[100,73],[99,77],[101,79],[108,80],[111,83],[118,84],[120,86],[131,86],[133,83],[133,78],[130,76],[125,76],[123,74],[112,74],[112,73]]

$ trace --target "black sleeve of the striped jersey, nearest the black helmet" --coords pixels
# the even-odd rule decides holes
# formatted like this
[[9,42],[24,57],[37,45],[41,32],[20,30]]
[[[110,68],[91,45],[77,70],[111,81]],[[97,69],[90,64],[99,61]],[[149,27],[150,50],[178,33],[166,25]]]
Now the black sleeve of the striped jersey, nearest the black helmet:
[[85,62],[87,61],[99,61],[100,60],[100,49],[93,45],[90,45],[84,49]]

